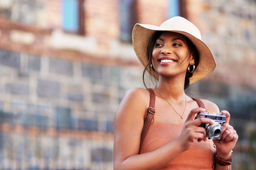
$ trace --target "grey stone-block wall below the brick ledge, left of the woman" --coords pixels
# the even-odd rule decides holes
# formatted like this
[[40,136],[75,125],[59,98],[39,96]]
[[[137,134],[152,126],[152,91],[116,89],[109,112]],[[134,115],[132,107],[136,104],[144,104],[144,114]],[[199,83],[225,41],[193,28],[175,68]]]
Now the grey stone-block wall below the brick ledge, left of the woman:
[[1,169],[111,169],[114,112],[138,68],[5,49],[0,66]]

